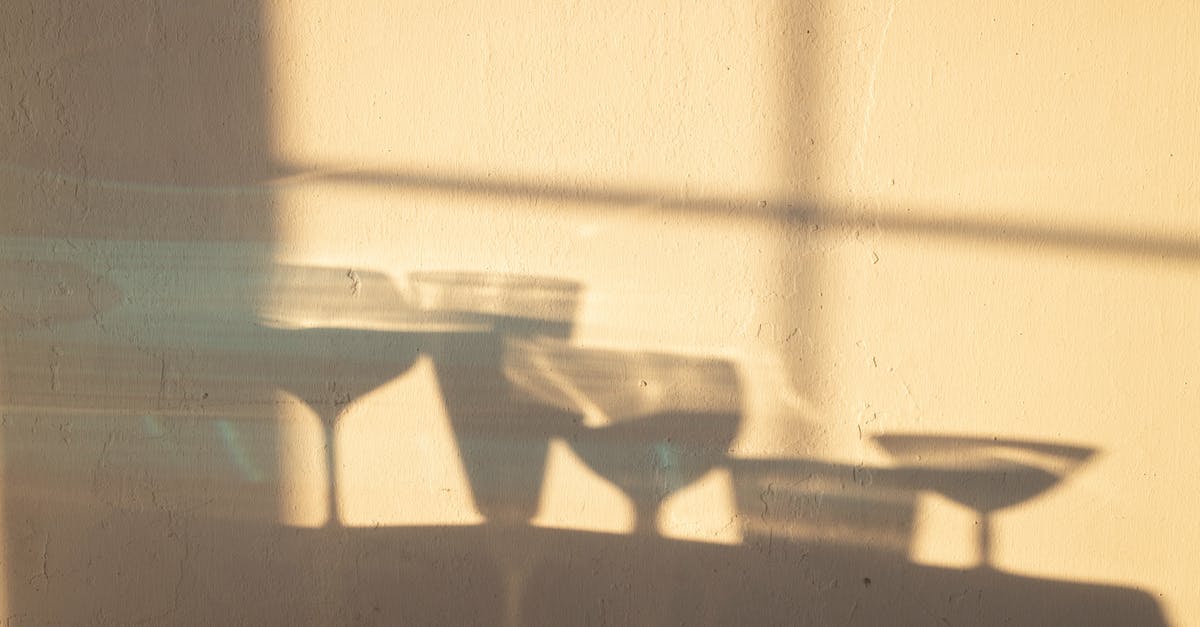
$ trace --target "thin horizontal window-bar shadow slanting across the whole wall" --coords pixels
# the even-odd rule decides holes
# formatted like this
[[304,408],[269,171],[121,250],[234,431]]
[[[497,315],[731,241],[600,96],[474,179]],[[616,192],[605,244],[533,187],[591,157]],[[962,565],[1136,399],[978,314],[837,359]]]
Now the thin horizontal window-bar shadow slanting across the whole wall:
[[[287,165],[284,165],[287,167]],[[450,175],[418,169],[346,169],[292,166],[288,174],[251,185],[168,186],[137,181],[113,181],[67,173],[35,171],[16,163],[0,169],[24,175],[49,177],[68,185],[92,185],[124,192],[179,196],[260,196],[275,190],[314,183],[335,183],[383,190],[425,190],[469,196],[533,198],[568,204],[610,205],[612,211],[709,213],[727,220],[750,220],[785,225],[810,225],[842,231],[877,229],[889,235],[932,237],[985,245],[1080,251],[1130,258],[1159,258],[1195,263],[1200,261],[1200,238],[1152,233],[1128,233],[1088,227],[1056,227],[1033,222],[938,217],[932,211],[896,207],[894,211],[866,213],[836,207],[820,207],[790,197],[688,196],[661,189],[535,183],[500,175]],[[904,215],[900,215],[904,214]]]

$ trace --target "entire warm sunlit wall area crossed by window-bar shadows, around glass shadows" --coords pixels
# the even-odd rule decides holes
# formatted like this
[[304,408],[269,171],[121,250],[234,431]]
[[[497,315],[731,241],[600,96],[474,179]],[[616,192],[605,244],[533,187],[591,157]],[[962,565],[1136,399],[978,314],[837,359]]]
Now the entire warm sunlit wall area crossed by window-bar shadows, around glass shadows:
[[[738,364],[742,459],[900,467],[871,442],[889,434],[1097,449],[994,514],[990,565],[1146,589],[1187,621],[1195,12],[281,4],[278,255],[401,291],[418,270],[577,280],[575,341]],[[346,522],[478,520],[461,468],[436,467],[454,459],[436,388],[406,377],[338,428]],[[425,420],[389,422],[397,405]],[[552,450],[535,522],[629,531],[623,495]],[[722,472],[659,529],[767,525],[730,527]],[[976,566],[979,516],[919,502],[881,522],[912,527],[888,550]],[[814,533],[798,520],[779,529]]]

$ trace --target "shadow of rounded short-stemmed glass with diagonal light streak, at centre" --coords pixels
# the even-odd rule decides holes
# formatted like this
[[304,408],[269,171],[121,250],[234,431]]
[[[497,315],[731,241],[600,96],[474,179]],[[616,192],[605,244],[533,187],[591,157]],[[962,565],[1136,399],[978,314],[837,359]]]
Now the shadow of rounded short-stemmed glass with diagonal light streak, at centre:
[[742,422],[737,369],[721,359],[518,340],[505,374],[582,417],[569,444],[630,497],[642,535],[658,533],[667,497],[724,464]]

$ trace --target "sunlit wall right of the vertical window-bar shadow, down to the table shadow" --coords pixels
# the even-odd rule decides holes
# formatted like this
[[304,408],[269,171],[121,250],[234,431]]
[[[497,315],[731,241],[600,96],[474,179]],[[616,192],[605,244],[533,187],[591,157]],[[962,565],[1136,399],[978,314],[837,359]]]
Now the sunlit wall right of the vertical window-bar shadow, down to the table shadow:
[[[1174,486],[1200,478],[1194,6],[824,14],[842,34],[816,101],[826,203],[798,220],[828,233],[823,450],[890,466],[872,437],[914,431],[1092,447],[1057,489],[996,514],[995,562],[1145,586],[1196,615],[1180,586],[1194,539],[1165,531],[1190,525]],[[928,496],[911,555],[971,565],[970,542],[934,530],[979,516]]]

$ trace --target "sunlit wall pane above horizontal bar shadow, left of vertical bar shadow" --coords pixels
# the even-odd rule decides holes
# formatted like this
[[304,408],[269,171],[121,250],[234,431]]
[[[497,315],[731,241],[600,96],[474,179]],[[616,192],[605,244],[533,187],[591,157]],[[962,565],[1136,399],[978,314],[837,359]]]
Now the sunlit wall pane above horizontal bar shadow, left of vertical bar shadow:
[[772,11],[630,1],[277,11],[276,149],[299,171],[695,196],[770,183],[763,115],[776,86],[762,72],[761,23]]

